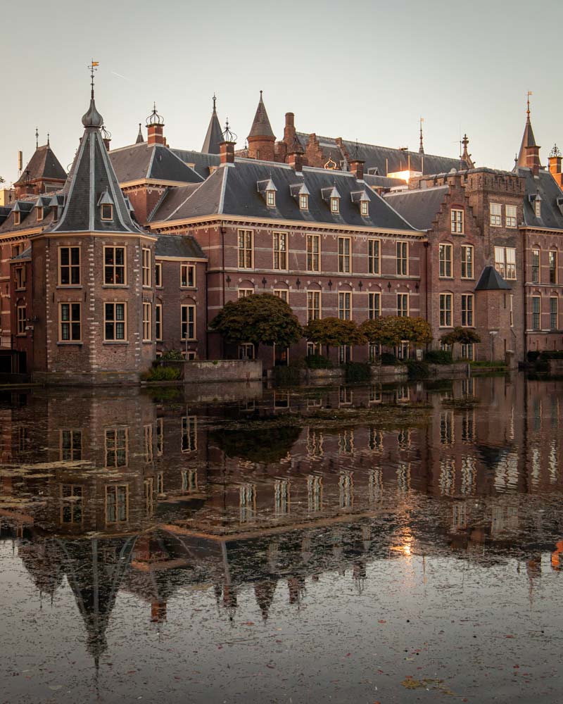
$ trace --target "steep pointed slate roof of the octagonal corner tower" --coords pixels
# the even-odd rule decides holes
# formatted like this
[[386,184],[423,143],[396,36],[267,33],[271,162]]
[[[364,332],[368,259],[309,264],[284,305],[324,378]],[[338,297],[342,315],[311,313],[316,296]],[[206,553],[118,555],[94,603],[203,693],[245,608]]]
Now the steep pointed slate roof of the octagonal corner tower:
[[[84,135],[72,163],[68,180],[63,188],[65,206],[58,222],[45,228],[45,232],[144,232],[132,219],[131,213],[103,144],[94,98],[90,109],[82,118]],[[107,191],[107,198],[106,198]],[[102,220],[98,203],[104,196],[113,203],[113,219]]]

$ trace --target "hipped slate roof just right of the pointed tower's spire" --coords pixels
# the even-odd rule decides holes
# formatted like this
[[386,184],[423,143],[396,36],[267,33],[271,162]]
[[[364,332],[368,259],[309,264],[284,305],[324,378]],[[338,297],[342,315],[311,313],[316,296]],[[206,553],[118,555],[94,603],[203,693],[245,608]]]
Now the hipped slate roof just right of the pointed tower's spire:
[[202,177],[163,144],[139,142],[109,153],[115,175],[120,183],[155,179],[200,183]]

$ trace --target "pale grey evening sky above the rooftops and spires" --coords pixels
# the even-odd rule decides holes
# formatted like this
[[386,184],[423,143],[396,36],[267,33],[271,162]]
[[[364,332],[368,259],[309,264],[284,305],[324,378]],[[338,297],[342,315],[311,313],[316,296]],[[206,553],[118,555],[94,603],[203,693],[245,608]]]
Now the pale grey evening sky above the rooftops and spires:
[[[259,91],[277,138],[284,114],[330,137],[511,169],[526,118],[540,156],[563,148],[562,0],[27,0],[2,3],[0,175],[18,177],[51,134],[66,168],[99,61],[96,105],[112,148],[132,144],[153,101],[172,147],[201,149],[217,94],[244,145]],[[145,132],[146,134],[146,132]]]

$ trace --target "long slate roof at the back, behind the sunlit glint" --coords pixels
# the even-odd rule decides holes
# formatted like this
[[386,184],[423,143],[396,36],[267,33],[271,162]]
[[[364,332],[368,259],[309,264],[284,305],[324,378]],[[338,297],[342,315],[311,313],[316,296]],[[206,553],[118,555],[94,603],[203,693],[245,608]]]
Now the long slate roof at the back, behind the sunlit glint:
[[[309,135],[305,132],[298,132],[298,137],[304,146],[309,143]],[[317,135],[322,153],[327,158],[332,158],[337,165],[345,160],[346,155],[336,143],[334,137],[320,137]],[[350,158],[355,158],[356,142],[350,142],[348,139],[342,140],[343,146]],[[367,173],[369,169],[377,169],[378,175],[386,176],[388,173],[396,173],[398,171],[406,171],[409,168],[411,171],[419,171],[424,174],[447,173],[452,169],[456,171],[466,169],[467,163],[460,161],[459,158],[448,158],[445,156],[434,156],[433,154],[419,154],[417,151],[403,151],[402,149],[393,149],[388,146],[377,146],[375,144],[358,143],[358,158],[364,161],[364,170]]]

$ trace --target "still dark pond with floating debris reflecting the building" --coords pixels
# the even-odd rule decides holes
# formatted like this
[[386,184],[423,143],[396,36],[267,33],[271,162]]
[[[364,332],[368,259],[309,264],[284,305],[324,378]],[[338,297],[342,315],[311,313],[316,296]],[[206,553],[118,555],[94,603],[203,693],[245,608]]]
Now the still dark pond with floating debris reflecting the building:
[[563,382],[0,391],[2,701],[559,702]]

